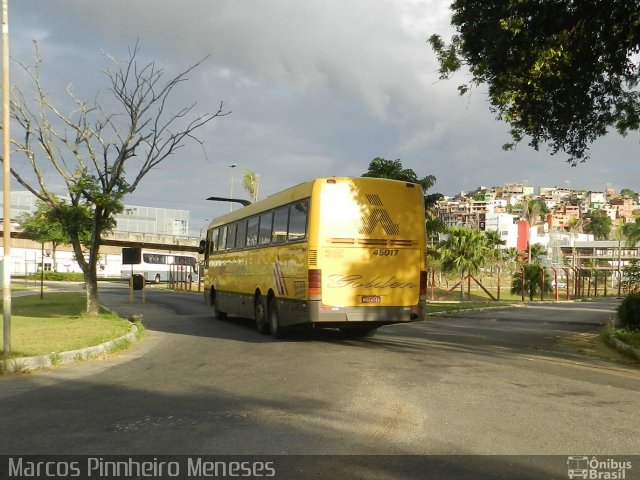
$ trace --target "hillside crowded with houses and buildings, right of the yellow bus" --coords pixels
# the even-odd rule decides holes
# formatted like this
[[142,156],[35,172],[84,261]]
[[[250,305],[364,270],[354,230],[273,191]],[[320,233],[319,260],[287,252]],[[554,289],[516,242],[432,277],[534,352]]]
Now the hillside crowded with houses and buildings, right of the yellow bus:
[[[538,204],[532,218],[525,211],[529,202]],[[638,255],[622,234],[623,226],[640,214],[638,194],[629,189],[596,192],[523,183],[478,187],[444,197],[435,213],[446,227],[497,232],[504,250],[525,251],[529,242],[539,244],[548,266],[617,270]]]

